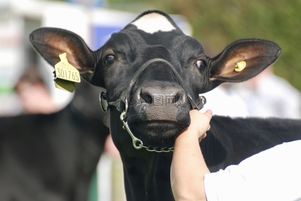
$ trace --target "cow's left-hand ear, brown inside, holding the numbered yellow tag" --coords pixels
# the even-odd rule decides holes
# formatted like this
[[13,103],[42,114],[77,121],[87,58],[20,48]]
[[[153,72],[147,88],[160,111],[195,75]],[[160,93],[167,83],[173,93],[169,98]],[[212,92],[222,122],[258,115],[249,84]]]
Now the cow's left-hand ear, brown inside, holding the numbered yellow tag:
[[60,62],[59,55],[66,52],[68,62],[85,80],[102,86],[102,81],[92,79],[98,62],[97,54],[77,34],[60,28],[40,28],[30,34],[30,41],[52,66]]

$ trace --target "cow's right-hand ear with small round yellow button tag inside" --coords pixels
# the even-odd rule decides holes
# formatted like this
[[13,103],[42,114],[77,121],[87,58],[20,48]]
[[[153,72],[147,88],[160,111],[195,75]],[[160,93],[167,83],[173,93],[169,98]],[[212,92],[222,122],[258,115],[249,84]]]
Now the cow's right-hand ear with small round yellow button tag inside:
[[222,82],[248,80],[274,63],[280,53],[281,48],[271,41],[243,39],[233,42],[209,62],[209,79],[213,87]]

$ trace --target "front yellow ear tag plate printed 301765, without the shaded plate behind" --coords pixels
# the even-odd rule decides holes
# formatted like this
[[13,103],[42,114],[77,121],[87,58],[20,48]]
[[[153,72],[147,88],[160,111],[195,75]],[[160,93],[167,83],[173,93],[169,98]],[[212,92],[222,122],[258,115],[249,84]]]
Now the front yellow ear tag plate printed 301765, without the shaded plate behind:
[[59,55],[61,61],[55,64],[54,66],[55,76],[63,80],[81,82],[81,76],[79,74],[79,71],[68,62],[66,56],[66,52]]

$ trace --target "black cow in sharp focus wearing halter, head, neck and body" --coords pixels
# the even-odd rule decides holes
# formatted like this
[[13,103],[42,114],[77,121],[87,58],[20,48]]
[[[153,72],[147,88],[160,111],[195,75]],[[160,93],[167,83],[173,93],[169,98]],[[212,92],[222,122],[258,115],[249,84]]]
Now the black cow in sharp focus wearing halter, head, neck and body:
[[[100,101],[103,110],[109,110],[127,200],[174,200],[170,186],[174,136],[190,124],[189,111],[206,103],[199,94],[223,82],[248,80],[281,53],[274,42],[242,39],[211,58],[200,42],[156,10],[140,14],[97,51],[77,34],[58,28],[37,29],[30,40],[51,65],[66,53],[82,78],[106,88]],[[301,139],[300,129],[299,120],[214,116],[200,145],[210,171],[216,171]]]

